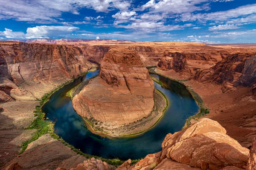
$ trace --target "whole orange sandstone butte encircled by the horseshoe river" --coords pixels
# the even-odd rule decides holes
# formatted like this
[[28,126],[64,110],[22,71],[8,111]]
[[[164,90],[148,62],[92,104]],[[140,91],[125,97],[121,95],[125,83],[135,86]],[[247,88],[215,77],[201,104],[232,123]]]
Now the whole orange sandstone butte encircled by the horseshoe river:
[[99,77],[74,96],[73,108],[90,122],[118,128],[150,114],[153,91],[154,82],[137,54],[112,48],[101,63]]

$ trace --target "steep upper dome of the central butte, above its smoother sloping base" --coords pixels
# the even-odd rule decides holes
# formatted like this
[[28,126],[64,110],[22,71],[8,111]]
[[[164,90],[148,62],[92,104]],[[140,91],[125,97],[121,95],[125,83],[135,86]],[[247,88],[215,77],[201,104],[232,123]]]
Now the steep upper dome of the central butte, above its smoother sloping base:
[[133,51],[111,50],[106,54],[99,76],[109,85],[132,95],[153,96],[154,82]]

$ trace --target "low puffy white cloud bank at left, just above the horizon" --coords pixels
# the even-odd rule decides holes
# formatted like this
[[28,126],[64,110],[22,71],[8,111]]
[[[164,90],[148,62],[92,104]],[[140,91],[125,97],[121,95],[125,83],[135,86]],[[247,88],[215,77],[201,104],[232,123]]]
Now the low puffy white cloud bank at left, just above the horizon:
[[67,33],[72,33],[78,30],[78,27],[73,26],[36,26],[27,28],[26,34],[20,31],[12,31],[5,28],[5,31],[0,31],[0,37],[10,39],[32,39],[32,38],[49,38]]

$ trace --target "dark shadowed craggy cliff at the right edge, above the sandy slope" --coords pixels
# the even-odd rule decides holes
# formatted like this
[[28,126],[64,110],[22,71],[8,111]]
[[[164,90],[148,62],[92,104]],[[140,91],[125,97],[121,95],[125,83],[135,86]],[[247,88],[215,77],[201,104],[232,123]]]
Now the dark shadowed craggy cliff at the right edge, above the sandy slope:
[[236,86],[252,87],[256,83],[256,53],[230,54],[210,69],[199,69],[195,79],[215,81],[224,85],[223,91],[234,91]]

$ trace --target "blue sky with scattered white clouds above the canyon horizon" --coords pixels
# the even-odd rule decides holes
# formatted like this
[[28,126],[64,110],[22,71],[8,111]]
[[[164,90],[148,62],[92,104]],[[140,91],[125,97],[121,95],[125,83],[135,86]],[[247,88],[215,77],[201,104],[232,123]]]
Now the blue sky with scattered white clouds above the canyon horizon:
[[256,43],[256,0],[0,0],[0,40]]

